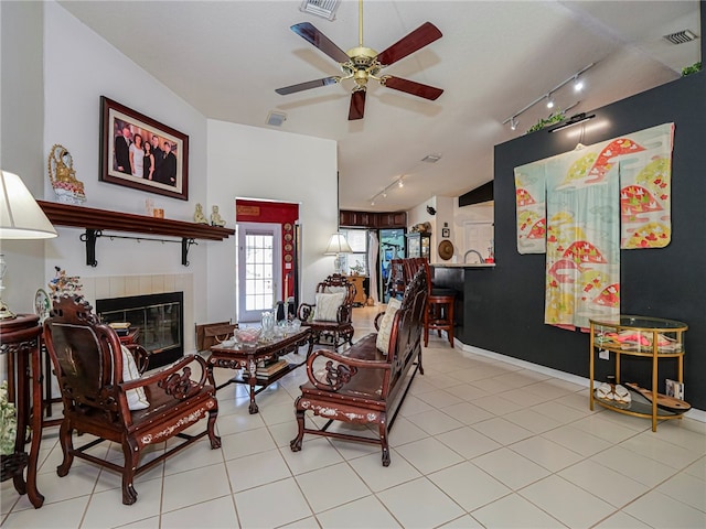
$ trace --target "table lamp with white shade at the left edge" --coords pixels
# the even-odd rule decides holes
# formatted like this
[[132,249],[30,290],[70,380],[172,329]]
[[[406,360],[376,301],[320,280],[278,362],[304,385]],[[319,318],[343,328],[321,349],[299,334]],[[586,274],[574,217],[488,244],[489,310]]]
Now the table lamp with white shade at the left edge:
[[[49,239],[56,230],[22,180],[0,171],[0,239]],[[2,280],[7,264],[0,251],[0,320],[15,317],[2,301]]]

